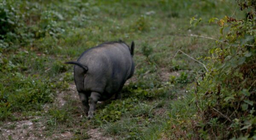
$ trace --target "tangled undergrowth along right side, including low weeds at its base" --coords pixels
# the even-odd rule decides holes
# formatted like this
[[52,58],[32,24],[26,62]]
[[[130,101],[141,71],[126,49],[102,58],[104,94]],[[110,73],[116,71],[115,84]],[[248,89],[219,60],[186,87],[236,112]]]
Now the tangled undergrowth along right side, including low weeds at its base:
[[191,95],[171,105],[170,126],[164,131],[174,133],[169,137],[256,138],[256,3],[237,2],[240,10],[246,11],[244,18],[209,20],[220,26],[219,39],[223,41],[216,41],[209,50],[211,56],[204,58],[205,72],[197,76]]

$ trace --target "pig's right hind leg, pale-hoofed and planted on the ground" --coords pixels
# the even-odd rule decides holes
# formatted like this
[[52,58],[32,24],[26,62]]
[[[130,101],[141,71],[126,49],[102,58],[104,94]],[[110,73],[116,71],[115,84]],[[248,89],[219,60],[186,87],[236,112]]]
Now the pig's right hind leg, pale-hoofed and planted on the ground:
[[90,109],[88,112],[88,117],[87,117],[88,119],[93,118],[93,113],[95,111],[96,104],[97,104],[97,101],[99,100],[100,96],[101,95],[98,92],[91,93],[91,95],[90,95],[91,104],[90,104]]

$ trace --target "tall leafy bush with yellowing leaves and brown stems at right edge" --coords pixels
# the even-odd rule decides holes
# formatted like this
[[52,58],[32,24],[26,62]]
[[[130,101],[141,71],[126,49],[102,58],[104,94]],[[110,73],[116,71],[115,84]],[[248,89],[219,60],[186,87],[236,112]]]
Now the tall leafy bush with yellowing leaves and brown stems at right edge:
[[197,81],[200,131],[209,134],[203,138],[256,137],[256,3],[243,2],[241,10],[249,8],[244,19],[218,20],[225,43],[209,51],[209,72]]

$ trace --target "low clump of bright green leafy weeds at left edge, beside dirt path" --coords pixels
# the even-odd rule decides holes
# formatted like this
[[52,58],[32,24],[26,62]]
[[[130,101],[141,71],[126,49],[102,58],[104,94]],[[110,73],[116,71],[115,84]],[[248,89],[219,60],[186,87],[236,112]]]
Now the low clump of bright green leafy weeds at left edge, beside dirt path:
[[0,120],[12,118],[11,112],[41,110],[42,104],[53,101],[53,87],[49,79],[7,75],[0,80]]

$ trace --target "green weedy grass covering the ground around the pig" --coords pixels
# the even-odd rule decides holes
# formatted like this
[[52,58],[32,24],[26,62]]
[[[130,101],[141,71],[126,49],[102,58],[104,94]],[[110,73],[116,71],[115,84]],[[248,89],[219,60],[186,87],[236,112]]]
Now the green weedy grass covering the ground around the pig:
[[[14,7],[12,12],[24,18],[17,18],[11,38],[6,35],[0,47],[0,120],[3,124],[40,116],[32,121],[43,123],[46,127],[41,133],[50,139],[61,139],[55,136],[64,132],[72,133],[73,139],[85,139],[90,137],[87,132],[93,128],[117,139],[207,138],[203,130],[201,134],[191,130],[191,126],[196,127],[201,120],[194,115],[197,107],[193,102],[192,84],[199,73],[191,71],[204,72],[204,68],[181,53],[173,57],[177,50],[182,50],[205,63],[200,58],[209,55],[208,50],[215,41],[178,34],[218,39],[218,25],[208,24],[208,20],[231,16],[236,2],[13,2],[6,5]],[[189,25],[192,17],[203,20],[193,27]],[[73,67],[64,62],[76,60],[84,50],[102,42],[118,39],[128,44],[135,42],[134,76],[122,90],[123,99],[98,104],[95,119],[89,121],[79,107],[79,100],[69,93]],[[60,92],[66,94],[64,106],[55,103]],[[189,120],[194,121],[186,122]],[[15,125],[8,129],[15,129]],[[31,133],[26,134],[29,135]]]

